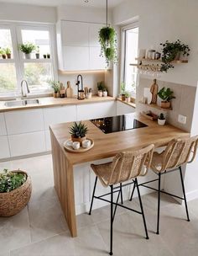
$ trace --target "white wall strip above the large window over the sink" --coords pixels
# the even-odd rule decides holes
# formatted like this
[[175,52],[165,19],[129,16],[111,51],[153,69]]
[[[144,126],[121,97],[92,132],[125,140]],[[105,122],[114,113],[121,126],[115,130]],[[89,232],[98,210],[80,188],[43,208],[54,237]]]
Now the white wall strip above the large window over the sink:
[[30,4],[0,3],[0,20],[55,24],[56,8]]

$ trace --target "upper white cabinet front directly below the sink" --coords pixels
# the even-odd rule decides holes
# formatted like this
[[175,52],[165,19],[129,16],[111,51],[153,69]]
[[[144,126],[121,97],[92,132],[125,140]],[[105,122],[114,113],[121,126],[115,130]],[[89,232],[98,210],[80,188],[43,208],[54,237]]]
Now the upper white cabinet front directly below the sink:
[[43,109],[6,112],[5,120],[8,135],[44,130]]

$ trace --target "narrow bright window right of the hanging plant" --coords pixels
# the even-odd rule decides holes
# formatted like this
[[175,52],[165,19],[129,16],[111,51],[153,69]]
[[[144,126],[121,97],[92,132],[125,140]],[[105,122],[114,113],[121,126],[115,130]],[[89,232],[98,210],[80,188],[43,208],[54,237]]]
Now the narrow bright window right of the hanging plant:
[[135,59],[138,56],[138,25],[131,24],[122,28],[122,82],[126,91],[135,96],[137,85],[137,67],[130,66],[131,63],[138,63]]

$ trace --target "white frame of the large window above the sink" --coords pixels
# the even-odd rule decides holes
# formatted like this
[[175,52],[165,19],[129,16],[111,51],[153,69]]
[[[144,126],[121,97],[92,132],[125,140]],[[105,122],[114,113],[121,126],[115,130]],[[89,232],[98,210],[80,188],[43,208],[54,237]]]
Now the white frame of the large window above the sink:
[[[14,63],[16,69],[16,77],[17,77],[17,85],[16,90],[10,92],[0,93],[0,99],[7,97],[21,96],[21,88],[20,83],[23,80],[24,73],[24,63],[34,63],[34,62],[44,62],[51,63],[52,67],[52,79],[58,79],[57,72],[57,61],[55,56],[55,24],[34,24],[34,23],[13,23],[13,22],[0,22],[0,29],[10,29],[12,45],[13,45],[13,59],[11,60],[2,60],[0,59],[0,63]],[[22,44],[22,30],[47,30],[49,31],[49,40],[50,40],[50,59],[30,59],[26,60],[23,58],[23,53],[18,51],[18,44]],[[30,95],[46,95],[48,93],[52,93],[52,89],[37,89],[32,90]],[[18,95],[19,94],[19,95]]]

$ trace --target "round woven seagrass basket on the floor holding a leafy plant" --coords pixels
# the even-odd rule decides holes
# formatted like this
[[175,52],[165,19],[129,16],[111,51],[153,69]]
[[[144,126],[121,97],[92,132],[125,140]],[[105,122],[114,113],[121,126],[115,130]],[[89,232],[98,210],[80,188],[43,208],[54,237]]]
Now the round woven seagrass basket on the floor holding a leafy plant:
[[[12,172],[25,173],[21,170]],[[28,204],[32,192],[32,184],[28,173],[25,174],[27,179],[22,186],[20,186],[18,189],[13,189],[8,193],[0,193],[0,216],[13,216]]]

